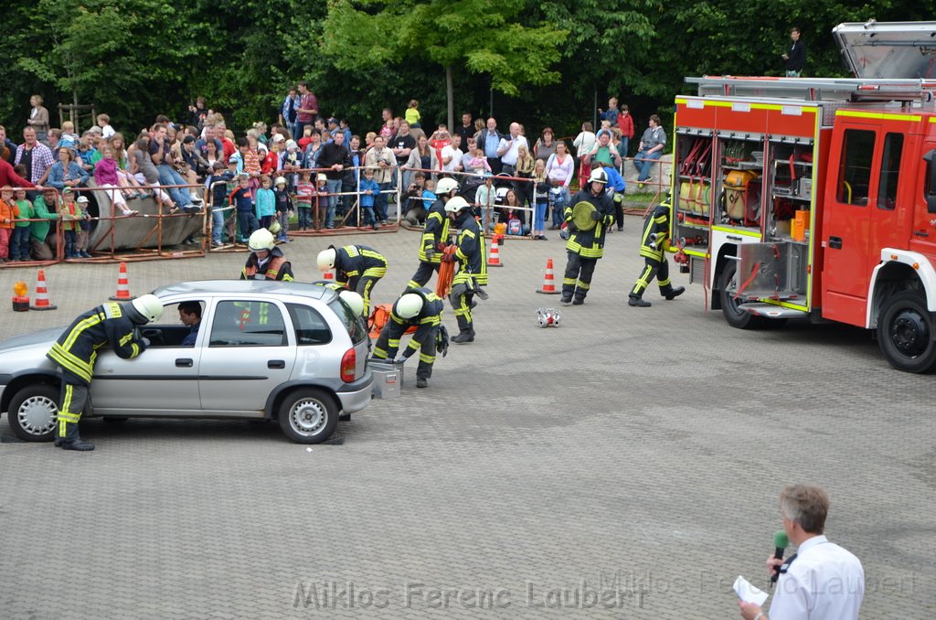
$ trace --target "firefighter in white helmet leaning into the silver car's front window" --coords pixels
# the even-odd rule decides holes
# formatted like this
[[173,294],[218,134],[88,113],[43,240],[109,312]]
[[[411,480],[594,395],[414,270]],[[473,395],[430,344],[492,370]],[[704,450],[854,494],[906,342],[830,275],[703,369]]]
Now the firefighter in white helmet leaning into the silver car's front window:
[[130,360],[150,344],[139,335],[139,326],[163,316],[163,303],[155,295],[143,295],[130,303],[105,303],[85,312],[59,336],[46,357],[59,366],[62,398],[55,447],[64,450],[94,450],[95,444],[81,439],[78,422],[88,403],[88,388],[95,373],[97,351],[110,347]]

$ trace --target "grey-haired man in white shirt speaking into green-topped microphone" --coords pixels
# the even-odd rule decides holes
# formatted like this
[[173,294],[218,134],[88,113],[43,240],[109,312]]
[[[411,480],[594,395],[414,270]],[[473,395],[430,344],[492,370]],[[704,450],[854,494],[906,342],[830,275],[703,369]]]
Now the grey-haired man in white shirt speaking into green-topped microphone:
[[785,561],[768,557],[768,573],[780,570],[770,616],[738,601],[745,620],[857,620],[865,595],[861,562],[823,536],[828,495],[815,486],[791,484],[780,494],[783,529],[797,547]]

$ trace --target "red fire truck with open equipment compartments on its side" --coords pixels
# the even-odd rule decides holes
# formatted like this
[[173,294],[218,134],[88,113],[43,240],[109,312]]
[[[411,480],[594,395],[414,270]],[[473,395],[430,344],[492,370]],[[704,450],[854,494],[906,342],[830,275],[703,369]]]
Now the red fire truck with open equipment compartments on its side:
[[936,370],[936,22],[833,35],[856,78],[687,79],[672,236],[730,325],[848,323]]

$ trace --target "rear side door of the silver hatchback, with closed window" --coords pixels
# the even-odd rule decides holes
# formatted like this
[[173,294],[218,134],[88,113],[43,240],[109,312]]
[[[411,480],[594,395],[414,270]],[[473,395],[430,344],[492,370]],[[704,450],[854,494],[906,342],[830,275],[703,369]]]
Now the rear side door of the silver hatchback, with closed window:
[[[219,300],[202,349],[198,390],[204,415],[260,417],[267,396],[296,362],[284,308],[269,298]],[[204,337],[204,334],[202,335]]]

